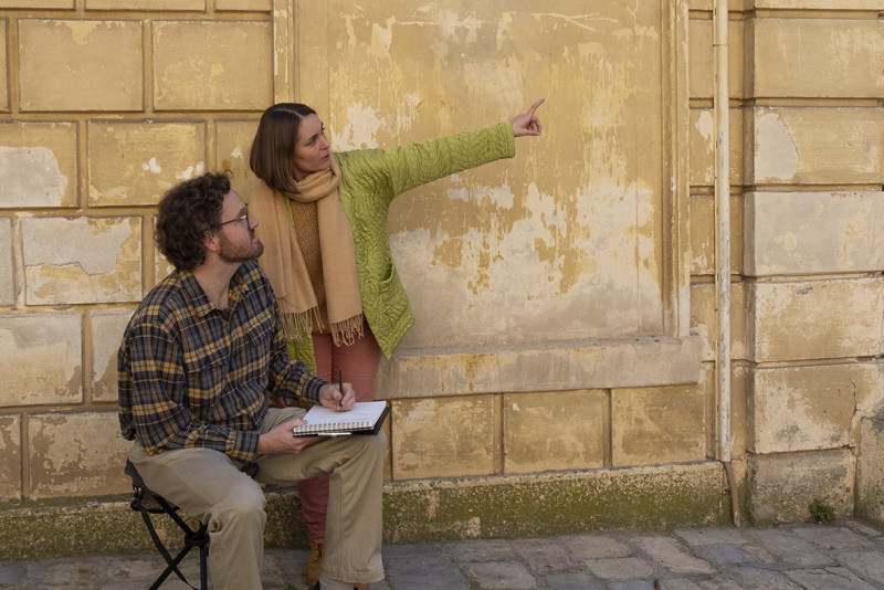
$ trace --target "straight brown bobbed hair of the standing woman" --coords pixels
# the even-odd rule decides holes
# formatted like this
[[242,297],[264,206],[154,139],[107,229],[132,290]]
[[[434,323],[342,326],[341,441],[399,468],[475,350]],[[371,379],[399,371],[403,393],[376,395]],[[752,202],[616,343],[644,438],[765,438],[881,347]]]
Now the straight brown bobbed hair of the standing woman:
[[278,103],[264,110],[257,124],[249,167],[270,188],[281,192],[295,190],[295,145],[301,122],[316,110],[301,103]]

